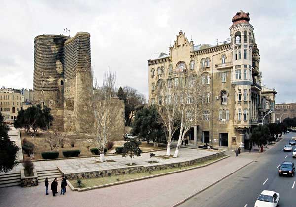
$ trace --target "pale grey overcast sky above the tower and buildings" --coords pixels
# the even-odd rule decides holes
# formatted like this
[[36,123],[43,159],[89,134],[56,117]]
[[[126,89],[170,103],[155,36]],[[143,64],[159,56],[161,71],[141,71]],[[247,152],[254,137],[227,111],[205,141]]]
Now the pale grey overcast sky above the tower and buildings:
[[[70,3],[71,2],[71,3]],[[241,3],[245,2],[245,3]],[[263,85],[276,102],[296,102],[296,3],[294,0],[19,0],[0,6],[0,87],[33,88],[34,37],[70,29],[91,34],[98,78],[116,72],[117,86],[148,99],[148,62],[168,53],[180,30],[194,44],[229,38],[231,19],[250,13],[260,50]]]

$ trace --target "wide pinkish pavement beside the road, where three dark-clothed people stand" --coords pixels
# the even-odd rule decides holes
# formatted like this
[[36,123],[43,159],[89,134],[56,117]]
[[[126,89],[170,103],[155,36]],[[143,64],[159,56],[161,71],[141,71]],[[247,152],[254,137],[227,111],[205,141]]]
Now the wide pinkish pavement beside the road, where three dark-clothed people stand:
[[0,207],[171,207],[251,161],[229,157],[199,169],[85,192],[67,187],[67,193],[57,197],[46,196],[43,185],[2,188]]

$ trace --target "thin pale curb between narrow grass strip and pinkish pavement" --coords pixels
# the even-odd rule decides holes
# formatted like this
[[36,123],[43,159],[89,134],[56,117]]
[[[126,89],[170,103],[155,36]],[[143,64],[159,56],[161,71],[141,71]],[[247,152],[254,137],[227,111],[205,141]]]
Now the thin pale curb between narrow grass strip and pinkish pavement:
[[124,183],[129,183],[129,182],[134,182],[134,181],[139,181],[139,180],[144,180],[144,179],[149,179],[149,178],[153,178],[153,177],[159,177],[159,176],[164,176],[164,175],[168,175],[168,174],[173,174],[173,173],[181,173],[181,172],[184,172],[184,171],[189,171],[189,170],[194,170],[194,169],[197,169],[197,168],[203,168],[203,167],[206,167],[208,165],[211,165],[211,164],[214,164],[216,162],[219,162],[223,159],[226,159],[230,157],[229,155],[227,156],[224,156],[218,160],[215,160],[215,161],[212,161],[210,163],[207,163],[207,164],[204,164],[204,165],[201,165],[201,166],[196,166],[196,167],[191,167],[191,168],[187,168],[187,169],[182,169],[182,170],[178,170],[178,171],[173,171],[173,172],[168,172],[168,173],[161,173],[161,174],[155,174],[155,175],[150,175],[150,176],[146,176],[146,177],[139,177],[139,178],[135,178],[135,179],[130,179],[130,180],[124,180],[124,181],[121,181],[121,182],[114,182],[114,183],[110,183],[110,184],[105,184],[105,185],[98,185],[98,186],[92,186],[92,187],[88,187],[88,188],[74,188],[74,186],[71,184],[69,185],[71,190],[73,191],[87,191],[87,190],[93,190],[93,189],[99,189],[99,188],[104,188],[104,187],[110,187],[110,186],[114,186],[114,185],[120,185],[120,184],[124,184]]

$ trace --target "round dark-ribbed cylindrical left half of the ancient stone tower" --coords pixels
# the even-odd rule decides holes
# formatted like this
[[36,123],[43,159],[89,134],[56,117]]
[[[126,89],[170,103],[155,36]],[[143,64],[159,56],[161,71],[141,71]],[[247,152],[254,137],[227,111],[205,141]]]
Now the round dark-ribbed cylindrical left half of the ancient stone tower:
[[34,102],[52,109],[54,125],[63,128],[64,43],[70,37],[39,35],[34,39]]

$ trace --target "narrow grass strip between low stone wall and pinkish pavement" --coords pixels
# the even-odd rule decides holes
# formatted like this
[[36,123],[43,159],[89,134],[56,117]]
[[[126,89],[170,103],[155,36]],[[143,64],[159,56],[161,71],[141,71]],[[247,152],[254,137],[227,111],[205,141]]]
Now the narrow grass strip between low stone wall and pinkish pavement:
[[[121,182],[125,180],[131,180],[135,178],[140,177],[147,177],[150,175],[155,174],[161,174],[161,173],[169,173],[174,171],[179,171],[183,169],[188,169],[192,167],[201,166],[210,162],[213,162],[215,160],[218,160],[222,157],[214,158],[211,160],[207,160],[205,162],[201,162],[195,165],[185,166],[181,168],[171,168],[171,169],[165,169],[165,170],[159,170],[159,171],[152,171],[152,172],[146,172],[146,173],[132,173],[132,174],[124,174],[124,175],[117,175],[117,176],[109,176],[109,177],[99,177],[99,178],[90,178],[90,179],[81,179],[82,186],[80,188],[87,188],[87,187],[93,187],[93,186],[99,186],[99,185],[106,185],[110,183],[116,183]],[[71,184],[76,188],[77,187],[77,180],[69,180]]]

